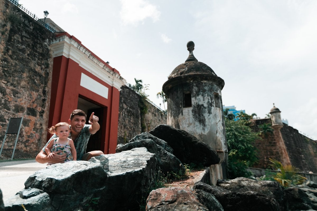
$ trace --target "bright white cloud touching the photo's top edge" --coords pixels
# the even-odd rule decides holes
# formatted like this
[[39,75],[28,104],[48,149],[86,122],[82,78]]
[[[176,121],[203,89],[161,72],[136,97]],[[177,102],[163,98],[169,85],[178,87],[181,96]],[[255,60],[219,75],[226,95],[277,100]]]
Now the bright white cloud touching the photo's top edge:
[[161,12],[157,6],[144,0],[120,0],[122,8],[120,17],[123,24],[134,24],[143,22],[146,18],[152,18],[153,22],[159,20]]

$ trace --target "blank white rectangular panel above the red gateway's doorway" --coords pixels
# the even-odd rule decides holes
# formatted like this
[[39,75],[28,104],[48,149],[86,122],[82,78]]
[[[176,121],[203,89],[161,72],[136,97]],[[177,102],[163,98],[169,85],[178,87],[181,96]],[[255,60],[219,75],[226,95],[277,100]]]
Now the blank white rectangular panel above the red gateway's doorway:
[[80,85],[106,99],[108,99],[108,87],[100,84],[98,81],[90,78],[89,76],[81,73]]

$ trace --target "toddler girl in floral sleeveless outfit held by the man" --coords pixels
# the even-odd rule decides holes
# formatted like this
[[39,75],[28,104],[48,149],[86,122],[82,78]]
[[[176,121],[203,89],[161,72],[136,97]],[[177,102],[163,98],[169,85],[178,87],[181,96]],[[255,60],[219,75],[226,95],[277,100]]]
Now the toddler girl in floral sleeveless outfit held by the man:
[[[55,152],[61,150],[59,154],[66,154],[65,162],[71,160],[77,160],[76,149],[73,140],[68,138],[70,129],[66,122],[57,123],[55,126],[49,128],[49,133],[56,134],[58,136],[52,139],[45,148],[46,154],[49,158],[54,158]],[[54,163],[48,163],[51,165]]]

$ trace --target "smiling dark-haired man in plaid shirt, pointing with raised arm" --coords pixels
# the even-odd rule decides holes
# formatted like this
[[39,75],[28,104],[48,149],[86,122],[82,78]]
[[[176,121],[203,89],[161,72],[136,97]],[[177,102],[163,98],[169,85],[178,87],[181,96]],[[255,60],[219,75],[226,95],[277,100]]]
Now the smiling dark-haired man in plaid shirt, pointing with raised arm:
[[[102,151],[92,151],[85,154],[90,135],[95,134],[100,128],[98,120],[99,118],[95,116],[93,112],[89,117],[89,125],[86,125],[86,114],[84,111],[79,109],[73,110],[72,114],[70,115],[70,119],[68,120],[71,130],[69,138],[71,138],[74,141],[74,145],[77,152],[77,160],[89,160],[92,157],[103,154]],[[61,152],[61,150],[57,151],[57,153],[54,155],[54,158],[49,158],[45,152],[45,147],[55,137],[56,135],[54,134],[46,143],[46,145],[42,148],[42,150],[38,153],[38,155],[35,158],[37,162],[64,163],[66,159],[66,154],[57,154]]]

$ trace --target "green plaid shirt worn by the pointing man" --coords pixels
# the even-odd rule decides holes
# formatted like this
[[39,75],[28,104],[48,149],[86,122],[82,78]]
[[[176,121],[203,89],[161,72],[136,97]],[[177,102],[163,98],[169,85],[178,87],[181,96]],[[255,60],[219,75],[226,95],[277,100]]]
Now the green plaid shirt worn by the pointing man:
[[[89,132],[89,127],[91,125],[86,125],[82,128],[81,132],[78,134],[77,138],[74,141],[74,145],[75,145],[75,148],[76,148],[76,154],[77,154],[77,160],[81,160],[82,156],[86,153],[86,148],[87,148],[87,143],[89,141],[89,138],[90,138],[90,132]],[[70,126],[69,126],[70,128]],[[72,138],[71,136],[71,133],[69,133],[69,136],[68,138]],[[49,141],[46,143],[46,145],[42,148],[43,152],[45,152],[45,148],[46,146],[49,144],[49,142],[56,138],[56,134],[54,134],[50,139]]]

